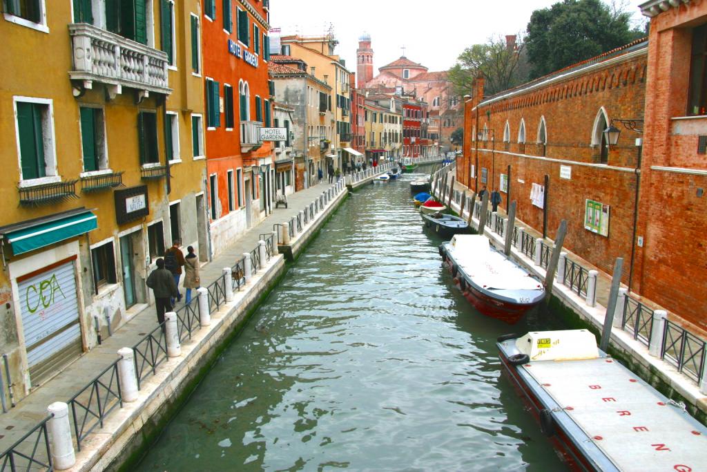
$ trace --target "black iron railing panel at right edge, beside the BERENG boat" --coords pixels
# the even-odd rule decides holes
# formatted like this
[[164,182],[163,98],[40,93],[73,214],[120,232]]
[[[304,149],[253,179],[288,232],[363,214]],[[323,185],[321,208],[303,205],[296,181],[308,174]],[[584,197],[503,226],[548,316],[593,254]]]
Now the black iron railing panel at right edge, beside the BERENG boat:
[[[629,297],[626,297],[628,299]],[[653,319],[653,316],[650,317]],[[660,350],[661,359],[675,367],[699,385],[704,372],[707,343],[688,330],[665,320],[665,333]]]

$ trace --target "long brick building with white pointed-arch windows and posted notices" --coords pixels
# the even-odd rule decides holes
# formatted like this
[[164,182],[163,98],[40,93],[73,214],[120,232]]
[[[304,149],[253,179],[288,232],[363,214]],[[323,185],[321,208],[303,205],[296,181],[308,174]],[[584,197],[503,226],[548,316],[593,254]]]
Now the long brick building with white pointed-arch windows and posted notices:
[[499,190],[503,208],[516,200],[517,217],[550,238],[566,219],[565,246],[604,272],[624,258],[634,290],[641,134],[623,129],[609,149],[603,131],[643,118],[647,59],[644,39],[489,98],[479,79],[457,166],[457,180]]

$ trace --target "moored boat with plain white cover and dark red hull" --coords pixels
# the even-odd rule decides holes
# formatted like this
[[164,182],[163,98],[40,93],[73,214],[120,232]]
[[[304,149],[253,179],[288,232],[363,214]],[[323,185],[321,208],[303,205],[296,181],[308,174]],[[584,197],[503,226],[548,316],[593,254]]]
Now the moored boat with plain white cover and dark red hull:
[[464,297],[486,316],[518,323],[545,297],[542,283],[493,248],[486,236],[457,234],[442,243],[440,255]]

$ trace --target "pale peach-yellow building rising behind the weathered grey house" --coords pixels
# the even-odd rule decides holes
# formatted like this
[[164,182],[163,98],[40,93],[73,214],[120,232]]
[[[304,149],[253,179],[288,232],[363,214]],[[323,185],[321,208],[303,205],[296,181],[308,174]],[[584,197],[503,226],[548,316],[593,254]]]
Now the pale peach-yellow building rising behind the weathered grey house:
[[282,54],[302,59],[312,76],[332,88],[329,97],[334,135],[325,156],[327,166],[332,163],[334,168],[340,169],[344,159],[348,159],[348,156],[344,158],[348,154],[346,148],[351,146],[351,87],[344,59],[334,54],[338,42],[332,35],[283,36],[280,40]]

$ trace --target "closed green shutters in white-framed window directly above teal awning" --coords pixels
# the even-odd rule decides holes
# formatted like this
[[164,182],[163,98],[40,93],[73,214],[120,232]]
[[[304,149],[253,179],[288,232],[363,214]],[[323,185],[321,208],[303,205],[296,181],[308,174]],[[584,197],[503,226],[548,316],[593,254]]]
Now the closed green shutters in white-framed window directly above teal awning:
[[47,175],[42,139],[42,110],[35,103],[17,102],[20,161],[23,180]]

